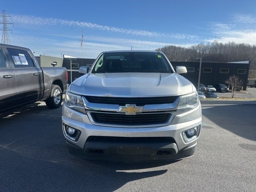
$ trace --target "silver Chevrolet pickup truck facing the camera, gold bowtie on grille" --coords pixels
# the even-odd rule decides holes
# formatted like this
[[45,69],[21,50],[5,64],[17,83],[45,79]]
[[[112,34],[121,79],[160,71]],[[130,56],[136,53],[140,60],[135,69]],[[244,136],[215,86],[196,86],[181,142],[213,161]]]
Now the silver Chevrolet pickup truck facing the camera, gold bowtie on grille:
[[201,106],[191,82],[159,51],[107,51],[66,92],[62,129],[68,152],[114,161],[194,155]]

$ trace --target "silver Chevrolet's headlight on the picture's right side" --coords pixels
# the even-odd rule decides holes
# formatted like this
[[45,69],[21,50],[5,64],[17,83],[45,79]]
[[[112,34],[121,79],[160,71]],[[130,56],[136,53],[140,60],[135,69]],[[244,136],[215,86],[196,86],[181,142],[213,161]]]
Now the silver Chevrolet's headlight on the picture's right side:
[[180,102],[176,114],[182,114],[184,112],[190,111],[197,107],[199,104],[198,94],[194,92],[188,95],[180,96]]

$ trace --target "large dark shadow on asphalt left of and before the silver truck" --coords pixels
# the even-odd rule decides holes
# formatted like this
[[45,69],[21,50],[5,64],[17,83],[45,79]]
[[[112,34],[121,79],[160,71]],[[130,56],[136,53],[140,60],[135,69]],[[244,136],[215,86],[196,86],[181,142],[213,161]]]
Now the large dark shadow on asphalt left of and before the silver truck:
[[166,166],[174,163],[122,163],[70,156],[61,130],[61,110],[50,110],[37,102],[2,114],[0,163],[8,167],[0,169],[1,183],[7,184],[1,186],[4,191],[20,191],[22,183],[24,191],[111,192],[132,181],[161,176],[168,171]]

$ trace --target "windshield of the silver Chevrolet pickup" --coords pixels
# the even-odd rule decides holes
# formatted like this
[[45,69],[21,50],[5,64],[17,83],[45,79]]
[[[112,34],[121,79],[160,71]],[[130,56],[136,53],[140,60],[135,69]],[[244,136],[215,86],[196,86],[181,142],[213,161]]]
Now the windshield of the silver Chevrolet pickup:
[[160,53],[104,53],[96,61],[92,73],[173,73],[170,64]]

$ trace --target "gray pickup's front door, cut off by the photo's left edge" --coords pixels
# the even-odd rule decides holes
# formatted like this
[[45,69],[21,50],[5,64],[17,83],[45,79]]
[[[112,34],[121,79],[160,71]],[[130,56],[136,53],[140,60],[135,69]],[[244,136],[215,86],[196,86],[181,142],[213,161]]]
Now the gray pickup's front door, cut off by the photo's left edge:
[[14,71],[6,62],[0,47],[0,113],[17,105],[17,92]]

